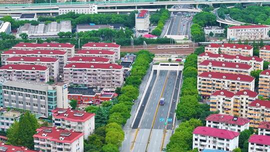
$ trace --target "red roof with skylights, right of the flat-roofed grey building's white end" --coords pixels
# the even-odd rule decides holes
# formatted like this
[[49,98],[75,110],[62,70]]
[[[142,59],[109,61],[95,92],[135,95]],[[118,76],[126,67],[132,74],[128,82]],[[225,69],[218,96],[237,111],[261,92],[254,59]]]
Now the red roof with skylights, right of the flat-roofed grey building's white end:
[[[70,108],[55,108],[51,110],[51,112],[54,118],[60,118],[60,119],[65,119],[65,120],[70,120],[70,121],[75,121],[75,122],[85,122],[86,120],[90,119],[91,117],[95,115],[94,113],[73,110]],[[76,115],[76,114],[81,114],[81,116]]]

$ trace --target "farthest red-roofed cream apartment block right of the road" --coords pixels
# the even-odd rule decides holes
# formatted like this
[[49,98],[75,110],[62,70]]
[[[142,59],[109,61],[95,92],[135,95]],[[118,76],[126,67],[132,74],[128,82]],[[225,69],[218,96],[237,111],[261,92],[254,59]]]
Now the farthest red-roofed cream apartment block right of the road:
[[214,54],[224,53],[227,55],[243,55],[252,56],[253,47],[244,44],[233,44],[233,43],[223,43],[215,44],[211,43],[205,46],[205,52],[210,52]]

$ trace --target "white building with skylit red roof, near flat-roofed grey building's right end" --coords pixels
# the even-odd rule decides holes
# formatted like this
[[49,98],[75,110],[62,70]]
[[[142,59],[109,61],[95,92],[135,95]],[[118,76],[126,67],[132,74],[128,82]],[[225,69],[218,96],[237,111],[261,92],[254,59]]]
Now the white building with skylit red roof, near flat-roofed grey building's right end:
[[51,112],[53,126],[83,132],[84,139],[94,130],[94,113],[70,108],[55,108]]

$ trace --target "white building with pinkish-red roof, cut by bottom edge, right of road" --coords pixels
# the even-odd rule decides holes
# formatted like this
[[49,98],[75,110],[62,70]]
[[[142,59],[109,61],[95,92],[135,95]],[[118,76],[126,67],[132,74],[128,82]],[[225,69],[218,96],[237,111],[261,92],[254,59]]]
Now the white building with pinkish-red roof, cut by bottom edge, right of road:
[[232,151],[238,147],[239,134],[226,129],[198,126],[193,130],[192,148],[198,148],[198,151],[205,148]]

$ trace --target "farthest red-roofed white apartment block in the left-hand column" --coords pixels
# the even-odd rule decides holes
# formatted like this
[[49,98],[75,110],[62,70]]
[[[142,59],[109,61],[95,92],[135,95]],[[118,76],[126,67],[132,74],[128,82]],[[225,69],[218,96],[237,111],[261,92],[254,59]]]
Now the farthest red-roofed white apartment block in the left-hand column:
[[17,43],[12,49],[19,50],[62,50],[67,52],[67,58],[73,57],[75,45],[70,43],[43,42],[43,43]]

